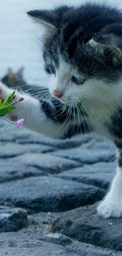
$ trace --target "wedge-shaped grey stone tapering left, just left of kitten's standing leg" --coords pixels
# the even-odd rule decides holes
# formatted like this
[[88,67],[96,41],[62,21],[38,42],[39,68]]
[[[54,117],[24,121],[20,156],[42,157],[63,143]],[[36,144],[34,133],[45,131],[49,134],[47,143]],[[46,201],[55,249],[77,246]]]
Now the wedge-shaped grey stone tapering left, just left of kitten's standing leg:
[[54,175],[54,177],[61,177],[67,180],[74,180],[107,189],[114,177],[115,169],[115,162],[100,162],[91,165],[84,164],[82,167],[63,171]]

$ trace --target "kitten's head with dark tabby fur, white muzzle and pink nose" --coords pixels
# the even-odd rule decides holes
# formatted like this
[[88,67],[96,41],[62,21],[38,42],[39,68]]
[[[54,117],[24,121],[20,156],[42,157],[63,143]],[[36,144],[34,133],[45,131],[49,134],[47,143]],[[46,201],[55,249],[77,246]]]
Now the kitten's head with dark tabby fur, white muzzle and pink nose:
[[122,71],[122,13],[106,5],[28,12],[45,26],[43,57],[52,95],[68,105],[114,98]]

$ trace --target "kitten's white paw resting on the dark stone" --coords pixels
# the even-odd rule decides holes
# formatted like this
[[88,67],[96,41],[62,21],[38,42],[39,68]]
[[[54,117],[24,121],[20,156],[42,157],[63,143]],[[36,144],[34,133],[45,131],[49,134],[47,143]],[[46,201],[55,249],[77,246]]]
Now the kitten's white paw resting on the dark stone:
[[104,218],[119,218],[122,215],[122,202],[117,203],[106,198],[99,204],[97,211]]

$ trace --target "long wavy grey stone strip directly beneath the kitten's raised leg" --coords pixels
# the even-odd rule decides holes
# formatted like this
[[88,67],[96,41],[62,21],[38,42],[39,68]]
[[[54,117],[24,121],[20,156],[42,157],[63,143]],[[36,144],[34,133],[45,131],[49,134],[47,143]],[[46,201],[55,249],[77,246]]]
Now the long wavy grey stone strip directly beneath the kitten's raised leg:
[[1,142],[17,142],[20,144],[43,144],[47,146],[56,147],[59,149],[66,149],[66,148],[73,148],[80,146],[84,143],[88,143],[91,140],[95,139],[95,141],[101,140],[101,137],[97,134],[87,134],[84,135],[77,135],[71,139],[59,140],[59,139],[50,139],[44,135],[40,135],[35,132],[28,131],[26,129],[18,130],[18,131],[9,131],[5,132],[5,129],[0,134],[0,141]]

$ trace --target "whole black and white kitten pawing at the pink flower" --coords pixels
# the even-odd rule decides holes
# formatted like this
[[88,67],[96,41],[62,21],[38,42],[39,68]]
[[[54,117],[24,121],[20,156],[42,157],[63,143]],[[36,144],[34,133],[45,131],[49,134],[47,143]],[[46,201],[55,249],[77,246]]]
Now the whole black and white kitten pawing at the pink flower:
[[[118,148],[117,173],[98,206],[105,218],[122,215],[122,11],[104,4],[62,5],[28,12],[45,27],[43,56],[51,98],[25,94],[15,120],[52,138],[99,132]],[[12,90],[0,84],[0,97]],[[16,98],[21,96],[16,92]],[[53,97],[54,96],[54,97]],[[59,99],[60,98],[60,99]],[[81,104],[79,114],[77,104]],[[66,108],[62,111],[62,107]],[[10,119],[14,117],[9,115]]]

